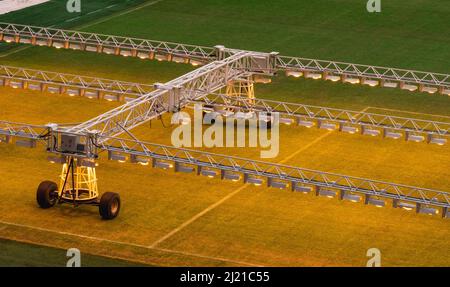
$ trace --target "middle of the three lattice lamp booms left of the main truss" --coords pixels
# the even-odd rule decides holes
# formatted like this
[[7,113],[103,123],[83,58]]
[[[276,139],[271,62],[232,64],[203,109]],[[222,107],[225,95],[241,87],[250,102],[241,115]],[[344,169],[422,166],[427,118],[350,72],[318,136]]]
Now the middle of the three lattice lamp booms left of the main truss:
[[[30,88],[30,85],[39,84],[34,88],[44,90],[46,89],[45,86],[42,86],[44,84],[64,87],[66,89],[74,88],[83,89],[84,91],[100,91],[130,97],[142,96],[154,90],[152,85],[1,65],[0,79],[4,81],[4,85],[9,84],[13,87],[18,87],[15,85],[22,85],[23,87],[26,84]],[[9,80],[9,82],[7,83],[5,80]]]

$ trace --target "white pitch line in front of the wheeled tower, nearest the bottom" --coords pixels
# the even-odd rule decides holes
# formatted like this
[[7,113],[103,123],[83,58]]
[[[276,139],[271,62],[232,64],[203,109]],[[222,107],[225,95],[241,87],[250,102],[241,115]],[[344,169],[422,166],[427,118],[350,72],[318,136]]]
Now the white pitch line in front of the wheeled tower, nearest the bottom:
[[[171,249],[166,249],[166,248],[164,248],[164,249],[162,249],[162,248],[152,248],[152,247],[149,247],[149,246],[136,244],[136,243],[131,243],[131,242],[110,240],[110,239],[94,237],[94,236],[88,236],[88,235],[82,235],[82,234],[76,234],[76,233],[71,233],[71,232],[66,232],[66,231],[52,230],[52,229],[42,228],[42,227],[37,227],[37,226],[32,226],[32,225],[19,224],[19,223],[13,223],[13,222],[6,222],[6,221],[3,221],[3,220],[0,220],[0,224],[7,225],[7,226],[21,227],[21,228],[29,228],[29,229],[39,230],[39,231],[43,231],[43,232],[55,233],[55,234],[65,235],[65,236],[78,237],[78,238],[89,239],[89,240],[94,240],[94,241],[108,242],[108,243],[113,243],[113,244],[117,244],[117,245],[133,246],[133,247],[138,247],[138,248],[144,248],[144,249],[156,250],[156,251],[160,251],[160,252],[180,254],[180,255],[185,255],[185,256],[189,255],[189,256],[193,256],[193,257],[210,259],[210,260],[216,260],[216,261],[223,261],[223,262],[228,262],[228,263],[233,263],[233,264],[241,264],[241,265],[248,265],[248,266],[259,266],[259,265],[256,265],[256,264],[243,262],[243,261],[230,260],[230,259],[226,259],[226,258],[219,258],[219,257],[214,257],[214,256],[207,256],[207,255],[201,255],[201,254],[196,254],[196,253],[171,250]],[[0,229],[0,230],[3,230],[3,229]]]

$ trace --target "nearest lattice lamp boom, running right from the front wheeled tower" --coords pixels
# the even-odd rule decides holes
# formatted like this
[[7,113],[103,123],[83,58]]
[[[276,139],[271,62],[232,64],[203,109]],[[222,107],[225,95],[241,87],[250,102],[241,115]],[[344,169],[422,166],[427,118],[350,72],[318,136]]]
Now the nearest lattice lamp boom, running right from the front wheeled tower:
[[101,149],[134,156],[174,161],[216,170],[238,172],[438,207],[450,207],[450,194],[443,191],[321,172],[246,158],[195,151],[122,138],[104,138]]

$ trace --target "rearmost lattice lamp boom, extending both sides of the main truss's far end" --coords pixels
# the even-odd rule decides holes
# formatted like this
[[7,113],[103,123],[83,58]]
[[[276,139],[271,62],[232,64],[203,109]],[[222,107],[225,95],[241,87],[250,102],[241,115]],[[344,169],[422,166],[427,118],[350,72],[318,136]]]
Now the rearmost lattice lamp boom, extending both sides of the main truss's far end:
[[[139,53],[159,53],[168,56],[169,58],[167,60],[172,56],[201,62],[222,59],[217,53],[216,47],[203,47],[11,23],[0,23],[0,38],[7,42],[33,45],[39,45],[38,42],[40,40],[44,41],[40,43],[42,45],[96,52],[105,52],[103,49],[106,48],[107,53],[115,53],[117,55],[121,54],[120,51],[129,52],[122,54],[129,56],[139,56]],[[93,49],[88,49],[88,47]],[[225,49],[225,51],[228,54],[235,54],[243,50]],[[279,70],[330,73],[332,75],[358,77],[365,80],[371,79],[417,84],[425,87],[436,87],[441,92],[450,93],[450,75],[448,74],[289,56],[277,56],[276,68]]]

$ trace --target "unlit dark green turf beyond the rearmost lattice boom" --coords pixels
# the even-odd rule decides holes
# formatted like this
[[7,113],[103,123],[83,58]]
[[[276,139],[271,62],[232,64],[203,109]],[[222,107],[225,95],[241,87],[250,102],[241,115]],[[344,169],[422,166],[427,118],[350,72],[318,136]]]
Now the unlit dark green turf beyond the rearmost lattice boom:
[[449,72],[449,1],[382,1],[381,13],[366,2],[164,0],[88,30]]

